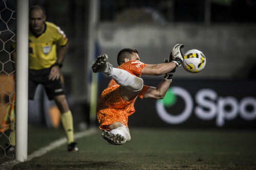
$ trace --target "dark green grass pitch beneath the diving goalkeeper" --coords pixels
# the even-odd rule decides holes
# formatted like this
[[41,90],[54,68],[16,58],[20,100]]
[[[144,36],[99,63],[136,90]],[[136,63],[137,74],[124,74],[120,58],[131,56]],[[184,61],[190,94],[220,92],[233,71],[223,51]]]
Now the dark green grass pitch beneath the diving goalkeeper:
[[[30,127],[28,155],[63,136],[62,129]],[[111,145],[97,129],[77,139],[77,153],[64,144],[11,169],[256,169],[254,130],[131,128],[131,136]]]

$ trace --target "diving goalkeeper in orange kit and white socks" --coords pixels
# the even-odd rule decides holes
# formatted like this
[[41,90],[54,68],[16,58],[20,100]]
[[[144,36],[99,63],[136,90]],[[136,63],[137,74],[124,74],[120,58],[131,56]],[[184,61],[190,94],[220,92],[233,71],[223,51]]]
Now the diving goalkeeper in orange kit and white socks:
[[[103,72],[112,78],[108,87],[101,93],[97,105],[97,118],[101,134],[111,144],[123,144],[131,140],[127,125],[128,116],[135,112],[134,103],[137,98],[163,99],[172,82],[176,67],[183,61],[181,48],[183,44],[174,46],[169,60],[162,64],[144,64],[140,62],[136,49],[124,48],[118,53],[118,68],[107,62],[108,56],[102,54],[92,65],[93,72]],[[164,75],[157,87],[143,84],[140,75]]]

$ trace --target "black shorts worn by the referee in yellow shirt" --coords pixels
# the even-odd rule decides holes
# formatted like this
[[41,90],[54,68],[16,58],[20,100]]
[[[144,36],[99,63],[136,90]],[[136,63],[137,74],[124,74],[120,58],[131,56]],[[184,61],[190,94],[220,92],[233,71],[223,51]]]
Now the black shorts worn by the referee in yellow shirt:
[[35,90],[38,84],[44,86],[46,94],[49,100],[52,100],[54,96],[65,94],[64,85],[59,78],[58,80],[49,80],[49,75],[52,66],[46,69],[33,70],[29,69],[29,99],[33,100]]

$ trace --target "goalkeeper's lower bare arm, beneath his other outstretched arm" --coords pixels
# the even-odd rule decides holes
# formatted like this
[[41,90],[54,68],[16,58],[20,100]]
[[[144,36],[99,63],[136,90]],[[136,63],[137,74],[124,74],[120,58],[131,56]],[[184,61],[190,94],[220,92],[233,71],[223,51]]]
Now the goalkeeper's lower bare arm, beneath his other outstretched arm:
[[163,79],[162,82],[157,87],[148,88],[145,94],[143,95],[143,98],[163,99],[171,82],[172,81]]

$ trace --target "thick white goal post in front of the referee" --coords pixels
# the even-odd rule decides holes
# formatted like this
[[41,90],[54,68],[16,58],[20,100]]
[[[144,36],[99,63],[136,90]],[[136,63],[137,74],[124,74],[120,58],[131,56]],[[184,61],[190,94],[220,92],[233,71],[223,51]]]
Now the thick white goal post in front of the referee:
[[29,0],[17,1],[16,20],[16,146],[15,158],[28,158]]

